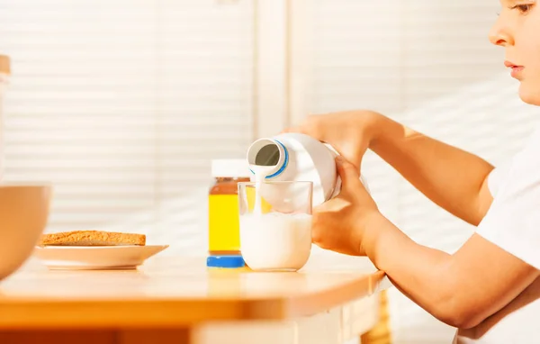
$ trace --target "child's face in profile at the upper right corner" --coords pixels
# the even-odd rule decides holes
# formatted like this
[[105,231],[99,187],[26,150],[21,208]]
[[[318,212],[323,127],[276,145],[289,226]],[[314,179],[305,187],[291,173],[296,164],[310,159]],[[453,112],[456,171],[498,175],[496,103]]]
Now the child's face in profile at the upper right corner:
[[537,0],[501,0],[500,4],[490,41],[505,48],[505,64],[521,83],[521,99],[540,105],[540,4]]

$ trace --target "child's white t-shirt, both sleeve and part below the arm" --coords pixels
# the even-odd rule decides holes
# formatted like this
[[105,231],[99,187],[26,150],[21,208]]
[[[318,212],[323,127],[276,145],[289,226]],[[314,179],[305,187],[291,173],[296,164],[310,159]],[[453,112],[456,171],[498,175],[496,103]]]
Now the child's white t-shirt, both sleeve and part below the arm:
[[[540,129],[488,186],[493,203],[476,232],[540,269]],[[455,343],[540,343],[540,278],[480,325],[458,330]]]

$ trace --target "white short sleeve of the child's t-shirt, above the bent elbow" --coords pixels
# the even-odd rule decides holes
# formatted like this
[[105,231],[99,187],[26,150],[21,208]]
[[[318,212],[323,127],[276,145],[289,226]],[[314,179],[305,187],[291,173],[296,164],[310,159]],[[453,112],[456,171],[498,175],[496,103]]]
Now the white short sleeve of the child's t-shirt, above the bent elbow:
[[488,179],[494,200],[477,233],[540,268],[540,132],[498,173]]

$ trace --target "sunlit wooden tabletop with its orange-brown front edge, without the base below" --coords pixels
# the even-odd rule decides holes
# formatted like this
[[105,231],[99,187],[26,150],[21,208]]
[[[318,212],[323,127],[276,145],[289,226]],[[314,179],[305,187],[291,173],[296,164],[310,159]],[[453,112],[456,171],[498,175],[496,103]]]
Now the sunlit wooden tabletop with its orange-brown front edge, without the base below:
[[205,258],[151,258],[138,270],[49,271],[31,260],[0,282],[0,329],[188,327],[284,320],[373,294],[384,278],[366,258],[311,259],[297,273],[209,269]]

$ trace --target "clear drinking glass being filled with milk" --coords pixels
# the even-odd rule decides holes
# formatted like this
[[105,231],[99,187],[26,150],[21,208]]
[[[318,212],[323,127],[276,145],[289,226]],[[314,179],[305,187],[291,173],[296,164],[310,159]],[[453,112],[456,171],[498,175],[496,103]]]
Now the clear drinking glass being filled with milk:
[[240,249],[248,267],[296,271],[311,253],[311,182],[238,183]]

